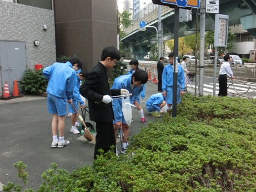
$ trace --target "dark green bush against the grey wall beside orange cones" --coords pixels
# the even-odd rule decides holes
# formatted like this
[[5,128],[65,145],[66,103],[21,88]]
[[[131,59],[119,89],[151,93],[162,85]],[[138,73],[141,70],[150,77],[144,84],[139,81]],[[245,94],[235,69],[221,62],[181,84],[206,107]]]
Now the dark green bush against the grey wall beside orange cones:
[[43,69],[26,69],[21,80],[21,87],[25,94],[46,92],[48,80],[43,77]]

